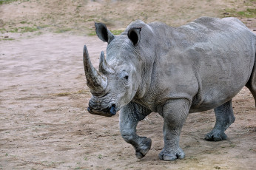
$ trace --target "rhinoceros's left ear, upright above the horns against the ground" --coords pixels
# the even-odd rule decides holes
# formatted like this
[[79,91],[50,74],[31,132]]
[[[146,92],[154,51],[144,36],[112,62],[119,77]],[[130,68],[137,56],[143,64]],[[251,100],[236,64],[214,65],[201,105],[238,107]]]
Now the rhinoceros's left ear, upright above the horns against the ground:
[[103,23],[95,23],[95,31],[98,38],[104,42],[107,42],[108,44],[110,44],[110,42],[115,38],[115,36],[110,32],[110,30],[107,30],[106,25]]

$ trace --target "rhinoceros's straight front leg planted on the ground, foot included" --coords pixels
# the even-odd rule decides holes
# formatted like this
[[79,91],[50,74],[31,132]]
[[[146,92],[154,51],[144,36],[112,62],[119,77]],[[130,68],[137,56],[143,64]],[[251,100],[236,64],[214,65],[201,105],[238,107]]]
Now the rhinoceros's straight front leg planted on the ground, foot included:
[[161,160],[183,159],[185,154],[179,146],[181,128],[189,114],[189,101],[175,99],[166,103],[161,115],[164,117],[164,149],[158,155]]

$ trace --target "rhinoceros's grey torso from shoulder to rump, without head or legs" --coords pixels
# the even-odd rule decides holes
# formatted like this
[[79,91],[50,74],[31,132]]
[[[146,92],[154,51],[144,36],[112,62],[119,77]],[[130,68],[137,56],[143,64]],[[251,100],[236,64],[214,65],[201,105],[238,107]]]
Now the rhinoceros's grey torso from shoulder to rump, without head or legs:
[[141,94],[149,108],[186,98],[189,112],[213,109],[252,75],[256,37],[237,18],[202,17],[181,27],[135,21],[131,27],[142,27],[139,46],[151,83]]

